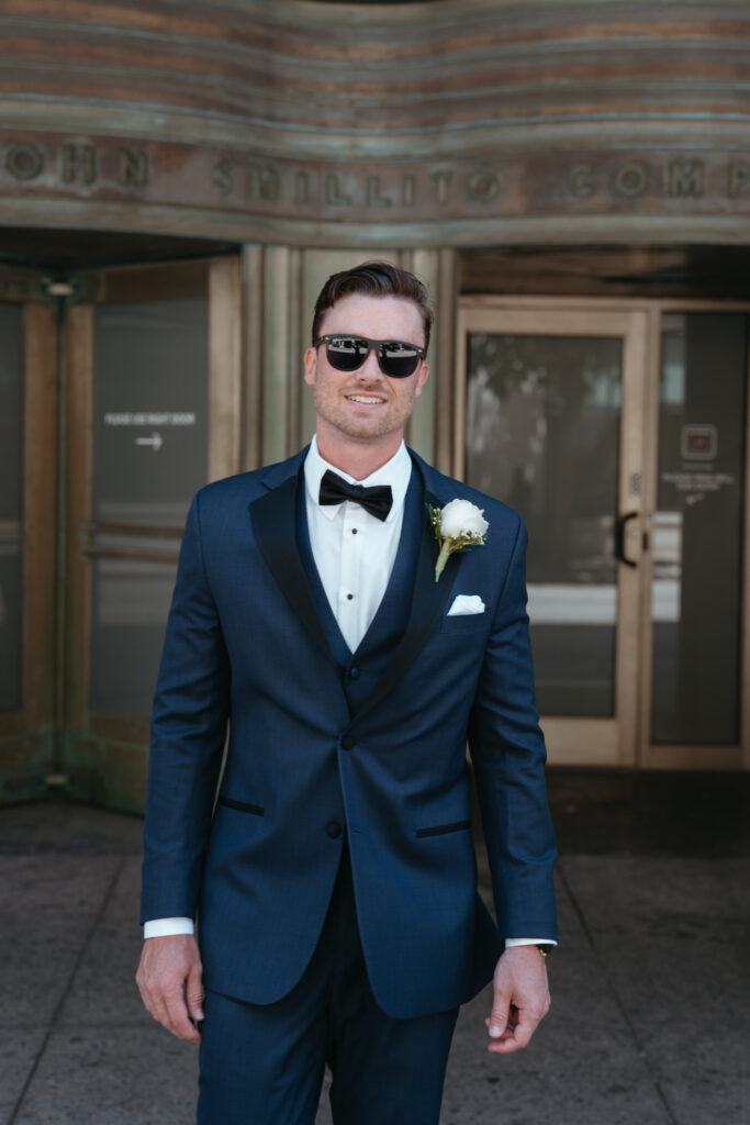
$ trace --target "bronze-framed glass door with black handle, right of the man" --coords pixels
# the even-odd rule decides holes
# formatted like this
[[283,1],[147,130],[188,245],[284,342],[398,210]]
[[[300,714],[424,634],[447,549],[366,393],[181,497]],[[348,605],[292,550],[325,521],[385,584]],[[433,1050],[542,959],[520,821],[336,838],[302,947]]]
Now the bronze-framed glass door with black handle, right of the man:
[[551,764],[636,759],[643,309],[473,298],[460,318],[457,475],[528,528],[528,614]]

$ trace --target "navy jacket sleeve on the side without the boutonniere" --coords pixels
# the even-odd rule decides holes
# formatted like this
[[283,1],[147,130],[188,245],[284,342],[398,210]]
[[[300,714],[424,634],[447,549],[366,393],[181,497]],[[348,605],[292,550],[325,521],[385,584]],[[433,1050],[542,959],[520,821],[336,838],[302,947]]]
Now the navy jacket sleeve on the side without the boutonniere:
[[229,710],[229,663],[188,513],[151,719],[141,920],[195,918]]

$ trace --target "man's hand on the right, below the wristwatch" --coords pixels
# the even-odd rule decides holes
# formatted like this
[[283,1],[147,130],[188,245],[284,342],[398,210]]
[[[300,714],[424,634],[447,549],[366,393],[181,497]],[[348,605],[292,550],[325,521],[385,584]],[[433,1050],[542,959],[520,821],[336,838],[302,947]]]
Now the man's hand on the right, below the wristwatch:
[[550,1010],[546,964],[535,945],[506,950],[495,970],[493,1014],[488,1051],[509,1054],[528,1045],[537,1025]]

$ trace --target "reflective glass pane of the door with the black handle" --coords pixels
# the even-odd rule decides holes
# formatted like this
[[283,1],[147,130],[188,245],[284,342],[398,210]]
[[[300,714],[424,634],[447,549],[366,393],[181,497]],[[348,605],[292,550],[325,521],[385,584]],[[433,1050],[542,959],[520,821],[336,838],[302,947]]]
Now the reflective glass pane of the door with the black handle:
[[622,341],[469,336],[467,479],[528,530],[541,711],[615,708]]

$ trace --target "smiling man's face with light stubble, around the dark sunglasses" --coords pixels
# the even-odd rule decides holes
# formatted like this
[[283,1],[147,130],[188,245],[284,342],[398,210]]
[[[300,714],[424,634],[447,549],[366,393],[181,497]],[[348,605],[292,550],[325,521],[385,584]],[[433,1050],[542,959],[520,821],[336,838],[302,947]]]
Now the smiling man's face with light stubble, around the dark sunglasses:
[[[425,343],[422,314],[404,297],[350,294],[325,313],[319,331],[320,335],[400,340],[421,348]],[[428,364],[421,362],[414,375],[392,379],[382,374],[371,351],[356,371],[337,371],[328,363],[325,344],[308,348],[305,381],[313,387],[318,436],[372,441],[401,434],[428,370]]]

